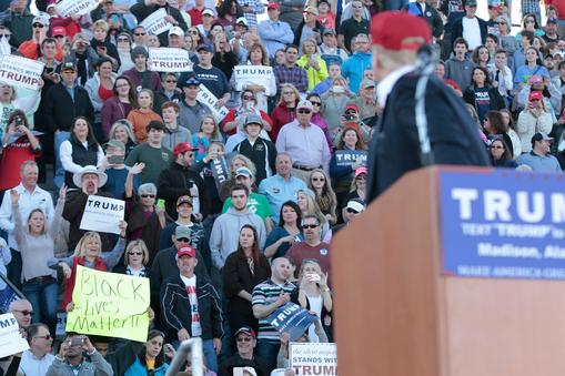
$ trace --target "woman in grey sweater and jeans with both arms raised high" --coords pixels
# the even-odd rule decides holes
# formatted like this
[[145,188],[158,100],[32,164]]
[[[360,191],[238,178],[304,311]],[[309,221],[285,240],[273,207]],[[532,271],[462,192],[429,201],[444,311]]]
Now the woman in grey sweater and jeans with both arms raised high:
[[54,256],[54,240],[59,233],[65,196],[67,187],[63,185],[59,191],[52,223],[48,225],[46,213],[34,209],[24,224],[19,209],[20,195],[16,190],[10,191],[14,235],[23,265],[22,293],[33,307],[33,323],[48,324],[51,333],[54,333],[57,323],[57,274],[47,263]]

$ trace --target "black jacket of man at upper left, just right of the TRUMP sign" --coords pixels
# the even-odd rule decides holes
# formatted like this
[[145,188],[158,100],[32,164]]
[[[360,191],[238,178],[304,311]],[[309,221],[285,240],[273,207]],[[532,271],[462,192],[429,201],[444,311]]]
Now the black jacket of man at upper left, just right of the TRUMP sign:
[[93,124],[94,108],[89,93],[80,85],[74,87],[74,100],[62,82],[53,85],[46,95],[46,120],[51,132],[69,131],[77,116],[84,116]]

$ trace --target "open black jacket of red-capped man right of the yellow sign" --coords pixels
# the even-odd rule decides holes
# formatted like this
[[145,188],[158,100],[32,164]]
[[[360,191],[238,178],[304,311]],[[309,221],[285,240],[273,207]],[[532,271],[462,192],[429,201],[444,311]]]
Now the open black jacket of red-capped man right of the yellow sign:
[[[222,308],[220,295],[206,280],[196,275],[196,297],[202,339],[222,338]],[[161,313],[168,335],[176,338],[176,332],[185,328],[192,337],[192,316],[189,294],[179,274],[169,277],[161,286]]]

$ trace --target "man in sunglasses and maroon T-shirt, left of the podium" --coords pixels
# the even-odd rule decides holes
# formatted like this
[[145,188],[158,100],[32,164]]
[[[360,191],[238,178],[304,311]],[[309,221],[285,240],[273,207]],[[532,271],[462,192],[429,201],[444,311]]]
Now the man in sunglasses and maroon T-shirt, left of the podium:
[[286,257],[291,263],[296,265],[296,274],[302,262],[305,260],[315,260],[320,264],[322,273],[330,273],[331,245],[321,240],[322,225],[320,220],[313,214],[304,215],[302,219],[302,232],[304,233],[304,242],[294,243],[286,253]]

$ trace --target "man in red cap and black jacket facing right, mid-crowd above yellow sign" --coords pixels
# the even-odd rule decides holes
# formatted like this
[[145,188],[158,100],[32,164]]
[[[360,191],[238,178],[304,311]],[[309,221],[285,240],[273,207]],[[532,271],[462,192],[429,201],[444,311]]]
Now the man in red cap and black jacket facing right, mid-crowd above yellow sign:
[[182,195],[191,196],[193,203],[198,199],[200,211],[199,214],[193,214],[198,221],[202,221],[210,211],[204,180],[191,170],[195,151],[196,149],[188,142],[179,143],[173,150],[174,161],[159,174],[157,181],[159,199],[165,201],[167,214],[172,219],[176,219],[176,199]]

